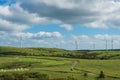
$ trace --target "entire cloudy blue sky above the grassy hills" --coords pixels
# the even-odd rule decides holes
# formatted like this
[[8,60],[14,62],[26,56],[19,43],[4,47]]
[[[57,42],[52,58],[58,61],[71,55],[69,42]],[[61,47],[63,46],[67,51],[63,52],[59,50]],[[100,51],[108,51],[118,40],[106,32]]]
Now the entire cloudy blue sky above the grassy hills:
[[120,49],[120,0],[0,0],[0,46]]

